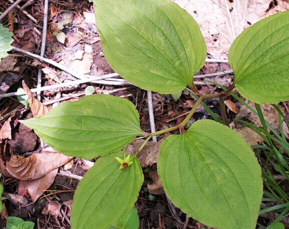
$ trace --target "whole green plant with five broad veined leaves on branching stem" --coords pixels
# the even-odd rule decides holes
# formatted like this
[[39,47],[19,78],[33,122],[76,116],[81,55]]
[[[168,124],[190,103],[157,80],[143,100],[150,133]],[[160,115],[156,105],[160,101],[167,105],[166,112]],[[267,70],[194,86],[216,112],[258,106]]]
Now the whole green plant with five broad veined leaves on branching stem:
[[[250,146],[212,120],[197,121],[188,130],[185,126],[208,98],[219,98],[227,123],[224,97],[234,86],[255,103],[289,99],[289,12],[270,16],[237,37],[229,50],[234,83],[222,93],[208,95],[200,94],[193,83],[204,64],[206,45],[187,12],[167,0],[95,0],[94,4],[103,50],[116,72],[142,89],[163,94],[188,87],[197,100],[183,122],[155,133],[141,130],[131,102],[109,95],[86,96],[63,103],[41,118],[22,121],[55,150],[87,159],[100,157],[74,195],[72,228],[106,229],[130,218],[144,179],[136,156],[152,136],[173,130],[181,134],[162,142],[157,163],[172,202],[211,227],[255,228],[263,187]],[[256,107],[263,136],[271,146]],[[129,158],[121,149],[137,136],[147,138]]]

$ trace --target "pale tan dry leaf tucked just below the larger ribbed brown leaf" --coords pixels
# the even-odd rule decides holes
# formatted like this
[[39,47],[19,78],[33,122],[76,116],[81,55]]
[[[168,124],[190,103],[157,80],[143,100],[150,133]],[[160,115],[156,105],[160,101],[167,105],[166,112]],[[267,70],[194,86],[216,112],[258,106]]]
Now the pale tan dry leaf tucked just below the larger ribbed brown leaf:
[[52,170],[51,172],[47,173],[45,176],[30,180],[27,186],[27,190],[31,196],[33,202],[35,202],[42,194],[48,189],[52,184],[57,176],[58,168]]

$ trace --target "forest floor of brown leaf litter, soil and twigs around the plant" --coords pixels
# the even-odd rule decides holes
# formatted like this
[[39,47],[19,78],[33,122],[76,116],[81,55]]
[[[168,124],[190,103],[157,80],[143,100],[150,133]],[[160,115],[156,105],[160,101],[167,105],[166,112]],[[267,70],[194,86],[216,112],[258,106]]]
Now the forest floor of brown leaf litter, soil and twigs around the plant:
[[[27,53],[25,54],[25,51],[37,55],[41,53],[45,18],[43,2],[22,1],[19,4],[21,9],[15,8],[2,22],[4,27],[10,28],[11,32],[14,33],[13,46],[21,48],[24,52],[12,52],[9,57],[0,62],[0,95],[16,92],[18,88],[23,87],[22,81],[30,89],[37,88],[38,74],[41,70],[43,76],[41,84],[48,88],[42,92],[41,101],[49,109],[64,101],[78,100],[85,96],[85,89],[88,86],[93,86],[96,94],[123,97],[135,104],[140,114],[141,128],[150,132],[149,102],[146,91],[131,85],[119,76],[112,76],[98,83],[87,82],[74,86],[62,86],[63,83],[78,79],[68,74],[65,69],[57,68],[53,64],[45,63],[39,58],[31,58]],[[189,0],[173,2],[190,12],[192,6],[189,5]],[[206,4],[207,2],[209,1],[206,1]],[[219,1],[210,3],[218,5],[213,2]],[[229,2],[233,4],[233,1]],[[25,5],[26,3],[27,5]],[[11,5],[10,1],[0,0],[0,12],[5,12]],[[255,18],[251,17],[254,7],[256,6],[248,6],[246,18],[248,25],[269,14],[288,10],[289,4],[286,1],[263,1],[262,8],[264,10],[258,9],[257,12],[262,13],[256,13],[258,16]],[[196,20],[201,20],[201,16],[202,13],[198,12]],[[228,20],[226,17],[223,16],[224,21]],[[219,20],[222,19],[219,18]],[[210,33],[209,36],[205,36],[206,42],[210,44],[208,45],[208,58],[211,60],[226,59],[226,39],[221,36],[220,32],[212,32],[211,25],[208,26],[205,21],[198,21],[198,23],[201,25],[203,33],[204,31]],[[219,22],[217,27],[227,31],[228,29],[223,27],[224,24],[228,25],[228,23]],[[213,28],[215,27],[213,26]],[[102,52],[92,3],[86,0],[49,1],[48,32],[44,57],[79,74],[103,76],[114,73]],[[231,68],[226,61],[224,63],[222,61],[206,62],[194,79],[197,89],[207,94],[222,91],[221,88],[208,81],[229,87],[233,76],[224,74],[224,72],[230,70]],[[173,96],[152,93],[156,131],[179,124],[194,103],[193,95],[187,90],[180,95]],[[206,104],[220,117],[218,99],[208,99]],[[232,97],[226,98],[226,106],[230,127],[242,135],[250,145],[263,144],[262,138],[254,131],[234,121],[235,118],[244,119],[258,126],[260,122],[257,117]],[[280,106],[289,118],[289,102],[281,103]],[[269,105],[263,106],[263,111],[268,122],[278,130],[277,112]],[[39,229],[69,229],[71,228],[70,211],[74,191],[79,180],[92,167],[95,160],[63,157],[56,162],[54,150],[44,144],[33,131],[18,122],[20,119],[31,117],[30,110],[20,103],[16,96],[0,97],[0,169],[2,173],[1,183],[5,187],[5,200],[3,201],[5,207],[0,216],[0,228],[5,228],[8,216],[18,216],[35,222],[36,228]],[[198,119],[212,119],[212,117],[203,107],[199,106],[189,124]],[[288,130],[285,129],[284,131],[285,134],[289,134]],[[206,228],[196,220],[187,217],[164,194],[155,166],[158,147],[163,137],[160,136],[157,143],[150,142],[142,153],[142,163],[145,165],[143,168],[145,182],[136,203],[140,217],[140,228]],[[134,145],[128,146],[127,150],[133,151],[139,144],[140,141],[137,141]],[[41,153],[47,153],[45,161],[41,157],[35,156]],[[148,154],[150,158],[147,157]],[[256,155],[260,162],[265,160],[257,151]],[[32,177],[31,181],[25,181],[24,174],[19,174],[12,169],[13,164],[18,170],[25,170],[28,167],[33,170],[43,163],[45,163],[43,171],[39,172],[45,174],[45,178]],[[273,168],[271,172],[278,174]],[[276,182],[284,192],[289,191],[289,185],[286,181],[276,179]],[[268,205],[267,202],[263,204]],[[273,212],[260,215],[258,227],[264,228],[261,225],[268,225],[277,217],[277,214],[277,212]],[[282,218],[282,222],[286,228],[289,228],[289,218],[286,215]]]

